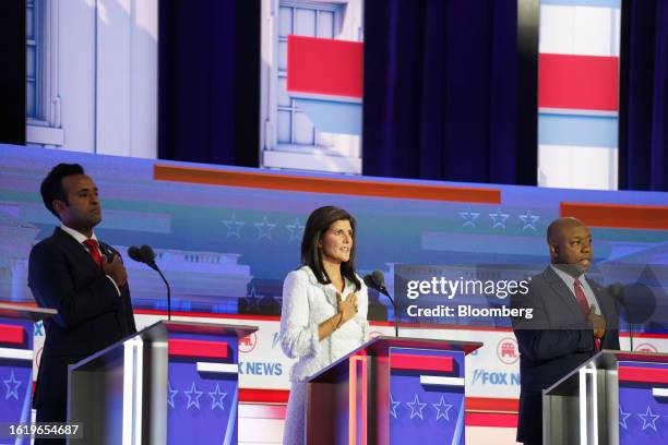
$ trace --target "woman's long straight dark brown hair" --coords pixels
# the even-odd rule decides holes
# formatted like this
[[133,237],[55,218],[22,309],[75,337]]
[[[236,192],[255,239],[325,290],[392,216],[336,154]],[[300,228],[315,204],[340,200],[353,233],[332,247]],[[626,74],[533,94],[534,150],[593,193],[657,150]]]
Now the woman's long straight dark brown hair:
[[329,205],[317,208],[311,213],[303,229],[303,238],[301,239],[301,264],[309,266],[313,270],[313,275],[315,275],[318,282],[321,285],[332,282],[322,264],[322,254],[320,249],[318,249],[318,244],[325,231],[330,229],[330,226],[342,219],[350,222],[353,248],[350,249],[350,258],[345,263],[341,263],[341,275],[355,284],[355,290],[359,290],[361,289],[361,284],[355,275],[356,221],[353,215],[343,208]]

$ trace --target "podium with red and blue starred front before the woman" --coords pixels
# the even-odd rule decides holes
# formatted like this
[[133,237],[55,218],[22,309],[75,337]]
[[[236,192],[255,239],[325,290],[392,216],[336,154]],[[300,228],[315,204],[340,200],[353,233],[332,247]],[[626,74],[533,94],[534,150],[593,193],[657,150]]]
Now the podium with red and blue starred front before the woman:
[[463,444],[464,357],[482,344],[377,337],[307,385],[308,444]]

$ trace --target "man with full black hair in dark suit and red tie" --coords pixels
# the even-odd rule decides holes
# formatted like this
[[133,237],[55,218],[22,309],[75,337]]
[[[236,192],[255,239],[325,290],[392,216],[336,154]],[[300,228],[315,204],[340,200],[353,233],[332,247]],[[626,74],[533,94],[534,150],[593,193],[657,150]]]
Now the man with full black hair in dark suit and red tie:
[[44,204],[61,225],[35,244],[29,256],[28,286],[37,304],[58,311],[44,324],[46,339],[34,405],[38,422],[64,422],[68,365],[136,328],[120,256],[98,242],[93,231],[102,220],[93,180],[76,164],[59,164],[44,179],[40,191]]

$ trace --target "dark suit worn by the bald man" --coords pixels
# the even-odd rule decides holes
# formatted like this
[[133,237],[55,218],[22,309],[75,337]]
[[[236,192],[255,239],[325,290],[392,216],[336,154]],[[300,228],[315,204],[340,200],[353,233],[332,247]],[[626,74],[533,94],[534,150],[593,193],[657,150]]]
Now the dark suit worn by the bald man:
[[[586,278],[596,296],[606,334],[601,349],[619,349],[617,310],[607,290]],[[542,389],[547,389],[596,353],[594,330],[577,300],[551,267],[532,277],[525,296],[512,297],[513,308],[532,308],[533,318],[514,318],[520,346],[520,419],[517,441],[542,443]]]

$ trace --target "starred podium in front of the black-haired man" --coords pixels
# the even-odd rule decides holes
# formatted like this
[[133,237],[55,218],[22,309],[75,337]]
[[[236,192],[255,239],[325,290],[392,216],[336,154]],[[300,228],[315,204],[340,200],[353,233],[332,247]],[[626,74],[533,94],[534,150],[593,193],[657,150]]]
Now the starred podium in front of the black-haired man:
[[69,366],[76,444],[236,444],[238,340],[254,326],[158,322]]

